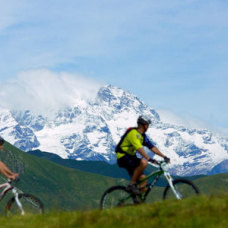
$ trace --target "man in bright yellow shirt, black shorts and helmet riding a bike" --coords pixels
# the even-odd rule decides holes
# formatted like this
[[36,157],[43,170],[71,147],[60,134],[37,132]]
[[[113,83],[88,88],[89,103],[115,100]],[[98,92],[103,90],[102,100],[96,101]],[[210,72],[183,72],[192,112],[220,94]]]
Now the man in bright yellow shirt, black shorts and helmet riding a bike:
[[[170,159],[161,153],[145,134],[150,124],[151,120],[147,116],[139,116],[137,127],[129,128],[116,146],[117,163],[119,167],[125,168],[131,177],[127,190],[135,194],[141,194],[141,191],[136,187],[136,182],[146,177],[143,171],[147,167],[148,161],[155,162],[148,156],[143,146],[164,158],[165,162],[170,162]],[[143,158],[136,156],[137,151]],[[141,187],[143,188],[145,185],[144,182]]]

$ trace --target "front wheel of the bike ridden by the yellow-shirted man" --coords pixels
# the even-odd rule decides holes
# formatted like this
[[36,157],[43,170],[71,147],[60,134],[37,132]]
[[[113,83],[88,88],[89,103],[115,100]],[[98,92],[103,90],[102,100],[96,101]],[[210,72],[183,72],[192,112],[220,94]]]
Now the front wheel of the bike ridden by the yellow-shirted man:
[[[180,194],[181,199],[193,197],[199,194],[197,186],[187,179],[176,179],[173,181],[173,186]],[[169,185],[164,190],[163,199],[177,199]]]

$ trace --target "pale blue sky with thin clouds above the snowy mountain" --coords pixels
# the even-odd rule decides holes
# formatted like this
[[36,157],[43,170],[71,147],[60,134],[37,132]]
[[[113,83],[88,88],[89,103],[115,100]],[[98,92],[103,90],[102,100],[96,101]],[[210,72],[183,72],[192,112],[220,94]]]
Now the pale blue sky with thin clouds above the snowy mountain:
[[228,135],[227,1],[0,3],[0,90],[21,72],[81,75]]

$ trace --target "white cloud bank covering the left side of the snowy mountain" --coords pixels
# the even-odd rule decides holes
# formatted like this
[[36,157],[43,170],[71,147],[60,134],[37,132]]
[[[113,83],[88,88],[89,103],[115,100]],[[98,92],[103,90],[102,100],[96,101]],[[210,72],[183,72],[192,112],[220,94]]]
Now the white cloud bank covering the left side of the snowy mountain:
[[25,71],[11,81],[0,83],[1,106],[43,114],[94,98],[101,85],[82,75],[47,69]]

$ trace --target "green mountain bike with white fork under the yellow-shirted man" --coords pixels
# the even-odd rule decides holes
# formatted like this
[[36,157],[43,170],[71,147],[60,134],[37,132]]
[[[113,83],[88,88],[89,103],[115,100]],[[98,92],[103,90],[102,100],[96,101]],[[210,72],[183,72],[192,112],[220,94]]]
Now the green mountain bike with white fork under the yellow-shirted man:
[[[126,186],[113,186],[107,189],[102,195],[100,201],[100,209],[127,206],[145,202],[152,188],[155,186],[158,179],[162,175],[165,176],[165,179],[168,182],[163,192],[164,200],[172,198],[181,200],[183,198],[199,194],[199,190],[196,185],[193,184],[193,182],[184,178],[174,180],[169,174],[169,172],[166,171],[165,166],[167,165],[167,163],[165,161],[155,161],[155,163],[156,164],[152,164],[148,162],[149,165],[157,167],[158,169],[137,182],[137,187],[140,190],[146,189],[145,192],[136,195],[132,192],[127,191]],[[146,184],[146,186],[144,185],[143,187],[140,187],[140,185],[147,180],[148,184]]]

